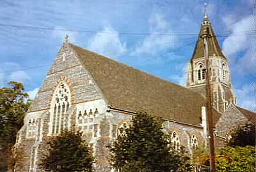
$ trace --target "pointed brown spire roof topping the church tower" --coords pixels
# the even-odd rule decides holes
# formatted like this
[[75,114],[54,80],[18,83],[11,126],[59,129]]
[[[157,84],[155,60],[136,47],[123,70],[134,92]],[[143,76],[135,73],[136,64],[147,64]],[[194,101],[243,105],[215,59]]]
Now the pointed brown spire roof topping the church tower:
[[[207,24],[205,22],[207,22]],[[214,30],[212,29],[211,22],[209,22],[208,18],[204,18],[204,22],[201,25],[201,29],[196,41],[196,46],[195,46],[195,50],[193,52],[191,61],[198,59],[200,57],[204,57],[204,39],[200,38],[200,36],[204,34],[204,30],[207,27],[209,28],[209,34],[211,35],[211,38],[208,39],[209,56],[213,56],[215,54],[216,56],[221,56],[224,59],[226,59],[225,55],[223,55],[223,53],[221,52],[220,45],[218,43],[218,40],[216,39]]]

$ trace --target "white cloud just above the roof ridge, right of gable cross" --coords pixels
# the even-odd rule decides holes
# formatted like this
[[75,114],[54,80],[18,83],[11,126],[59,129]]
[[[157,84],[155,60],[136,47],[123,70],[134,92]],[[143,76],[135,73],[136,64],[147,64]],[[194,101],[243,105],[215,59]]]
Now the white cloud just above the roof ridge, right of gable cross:
[[97,32],[87,45],[89,50],[97,52],[112,59],[118,59],[119,55],[127,52],[126,43],[122,42],[118,32],[110,25]]

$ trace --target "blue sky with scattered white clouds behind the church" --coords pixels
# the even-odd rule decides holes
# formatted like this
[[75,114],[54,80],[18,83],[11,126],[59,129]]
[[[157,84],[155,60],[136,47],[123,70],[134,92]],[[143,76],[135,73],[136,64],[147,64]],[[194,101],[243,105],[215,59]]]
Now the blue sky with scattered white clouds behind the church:
[[70,43],[184,86],[204,3],[237,103],[255,111],[254,0],[2,0],[0,87],[22,82],[33,99],[65,34]]

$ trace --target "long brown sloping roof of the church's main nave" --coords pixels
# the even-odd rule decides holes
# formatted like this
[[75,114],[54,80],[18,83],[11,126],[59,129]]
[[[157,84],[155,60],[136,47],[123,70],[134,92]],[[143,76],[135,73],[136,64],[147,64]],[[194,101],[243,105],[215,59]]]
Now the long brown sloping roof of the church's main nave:
[[113,108],[200,125],[205,99],[192,90],[70,44]]

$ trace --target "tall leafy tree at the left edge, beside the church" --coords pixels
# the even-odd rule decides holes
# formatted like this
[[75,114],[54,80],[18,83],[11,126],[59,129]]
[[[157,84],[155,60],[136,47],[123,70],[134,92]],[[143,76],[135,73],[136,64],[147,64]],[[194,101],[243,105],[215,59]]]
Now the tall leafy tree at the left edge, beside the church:
[[[30,106],[28,94],[24,92],[22,83],[9,82],[10,88],[0,89],[0,154],[4,154],[6,162],[12,157],[16,134],[23,125],[23,118]],[[6,163],[5,162],[5,163]],[[10,163],[9,163],[10,164]],[[0,169],[7,168],[1,164]]]

